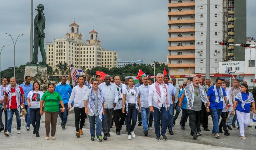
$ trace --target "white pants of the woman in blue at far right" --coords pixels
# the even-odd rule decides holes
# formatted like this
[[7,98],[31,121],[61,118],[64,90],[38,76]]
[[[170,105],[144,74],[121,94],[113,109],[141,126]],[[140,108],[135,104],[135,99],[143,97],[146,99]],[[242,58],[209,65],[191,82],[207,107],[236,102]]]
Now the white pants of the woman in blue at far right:
[[249,126],[251,120],[250,120],[250,113],[249,112],[241,112],[241,111],[237,111],[237,120],[239,122],[239,126],[240,126],[240,135],[244,136],[244,130],[246,127]]

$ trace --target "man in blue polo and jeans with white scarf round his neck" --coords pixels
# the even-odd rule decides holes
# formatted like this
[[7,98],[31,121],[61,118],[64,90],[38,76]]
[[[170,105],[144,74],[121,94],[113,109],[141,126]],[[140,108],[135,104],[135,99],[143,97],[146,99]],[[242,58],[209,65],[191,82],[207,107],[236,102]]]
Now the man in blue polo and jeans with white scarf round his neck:
[[[223,100],[226,103],[226,111],[229,109],[225,90],[221,87],[221,79],[217,78],[215,85],[210,87],[207,92],[207,99],[210,101],[210,111],[213,123],[212,134],[219,138],[219,118],[223,109]],[[218,96],[218,97],[217,97]]]

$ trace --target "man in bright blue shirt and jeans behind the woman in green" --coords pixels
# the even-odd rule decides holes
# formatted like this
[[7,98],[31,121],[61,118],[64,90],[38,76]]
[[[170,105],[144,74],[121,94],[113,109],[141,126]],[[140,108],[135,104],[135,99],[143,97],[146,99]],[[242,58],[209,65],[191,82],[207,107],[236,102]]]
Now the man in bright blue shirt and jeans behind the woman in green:
[[[55,91],[60,93],[64,107],[65,107],[64,112],[61,112],[61,110],[59,110],[59,116],[62,121],[61,126],[62,126],[63,130],[66,129],[65,126],[66,126],[67,118],[68,118],[68,100],[69,100],[69,96],[71,95],[71,92],[72,92],[71,86],[66,84],[66,80],[67,80],[67,78],[65,76],[63,76],[61,78],[61,84],[57,85],[55,88]],[[60,105],[60,108],[62,108],[61,105]]]

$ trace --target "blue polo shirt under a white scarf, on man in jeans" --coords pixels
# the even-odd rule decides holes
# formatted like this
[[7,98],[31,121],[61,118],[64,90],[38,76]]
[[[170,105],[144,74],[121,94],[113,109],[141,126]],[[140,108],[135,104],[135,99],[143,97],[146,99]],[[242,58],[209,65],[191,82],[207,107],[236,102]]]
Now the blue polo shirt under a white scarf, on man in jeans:
[[[222,87],[219,87],[222,89],[223,96],[227,96],[225,90]],[[217,89],[218,97],[219,97],[219,90]],[[219,103],[215,102],[215,92],[214,92],[214,86],[211,86],[208,89],[207,96],[210,96],[210,109],[217,108],[217,109],[223,109],[223,103],[221,101],[221,97],[219,97]]]

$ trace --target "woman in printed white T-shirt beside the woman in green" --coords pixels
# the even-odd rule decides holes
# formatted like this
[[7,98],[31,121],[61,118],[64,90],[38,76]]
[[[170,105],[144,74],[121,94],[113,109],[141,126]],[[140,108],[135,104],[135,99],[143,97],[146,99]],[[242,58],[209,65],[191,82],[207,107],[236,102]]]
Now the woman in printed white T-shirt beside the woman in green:
[[36,137],[39,137],[39,127],[40,127],[40,100],[44,93],[40,91],[40,84],[35,81],[33,83],[33,91],[30,91],[27,95],[27,104],[30,108],[30,119],[31,124],[34,127],[33,134],[35,134]]

